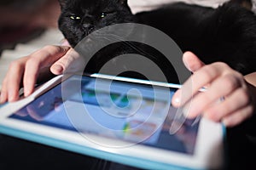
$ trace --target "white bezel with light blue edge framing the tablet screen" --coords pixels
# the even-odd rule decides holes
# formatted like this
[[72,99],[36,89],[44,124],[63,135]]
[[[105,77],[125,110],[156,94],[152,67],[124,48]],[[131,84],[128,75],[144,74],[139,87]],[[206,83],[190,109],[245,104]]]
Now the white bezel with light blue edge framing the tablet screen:
[[[91,77],[103,77],[108,79],[114,78],[115,80],[119,81],[139,82],[143,84],[153,83],[155,85],[171,88],[181,87],[177,84],[148,82],[125,77],[111,77],[108,75],[99,74],[91,75]],[[70,149],[67,150],[73,151],[73,146],[80,146],[81,148],[84,147],[91,150],[97,150],[96,152],[90,152],[88,150],[85,150],[85,153],[83,151],[80,152],[85,155],[106,158],[110,161],[122,161],[125,164],[142,168],[155,169],[160,167],[162,169],[174,166],[185,169],[215,169],[224,166],[224,127],[221,123],[212,122],[205,118],[201,118],[198,137],[195,144],[195,154],[193,156],[185,155],[175,151],[157,149],[150,146],[145,146],[143,144],[131,144],[129,147],[123,148],[105,147],[85,139],[83,135],[80,135],[77,132],[8,118],[12,113],[18,111],[20,108],[30,103],[33,99],[36,99],[38,95],[43,94],[46,90],[49,90],[55,86],[55,84],[61,82],[61,79],[62,76],[55,77],[38,88],[31,96],[27,97],[26,99],[20,99],[15,103],[3,105],[3,107],[0,108],[0,133],[7,133],[9,135],[22,138],[22,135],[14,133],[17,131],[20,132],[20,134],[27,133],[35,135],[40,139],[43,137],[43,139],[50,139],[51,141],[61,141],[61,144],[65,143],[64,145],[70,146]],[[10,131],[13,133],[9,133]],[[56,147],[66,149],[58,146],[57,144],[53,144],[54,142],[44,143],[44,140],[37,140],[37,137],[27,139],[36,140],[39,143],[42,141],[42,144],[55,145]],[[23,138],[26,139],[26,137]],[[118,143],[127,143],[129,145],[129,142],[119,141],[116,139],[107,139],[92,134],[90,138],[102,139],[106,145],[108,145],[108,143],[110,145],[113,143],[117,145],[119,145]],[[77,151],[79,152],[79,150]],[[121,157],[120,159],[119,156]],[[130,162],[126,162],[126,158],[127,160],[130,160]],[[139,163],[138,161],[148,162],[148,165],[145,163]]]

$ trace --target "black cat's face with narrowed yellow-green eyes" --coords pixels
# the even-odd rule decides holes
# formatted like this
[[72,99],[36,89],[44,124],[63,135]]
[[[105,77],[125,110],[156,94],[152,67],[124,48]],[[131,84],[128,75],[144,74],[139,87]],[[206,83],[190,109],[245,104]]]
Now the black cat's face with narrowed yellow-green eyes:
[[92,31],[113,24],[133,22],[127,0],[59,0],[59,28],[74,47]]

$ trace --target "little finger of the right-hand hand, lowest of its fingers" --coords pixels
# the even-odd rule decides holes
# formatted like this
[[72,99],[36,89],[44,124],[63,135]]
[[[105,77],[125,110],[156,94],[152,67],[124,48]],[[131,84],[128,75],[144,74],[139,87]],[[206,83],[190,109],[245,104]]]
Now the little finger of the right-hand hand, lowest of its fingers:
[[244,120],[247,120],[253,114],[253,106],[241,108],[241,110],[235,111],[222,119],[222,122],[226,127],[234,127]]

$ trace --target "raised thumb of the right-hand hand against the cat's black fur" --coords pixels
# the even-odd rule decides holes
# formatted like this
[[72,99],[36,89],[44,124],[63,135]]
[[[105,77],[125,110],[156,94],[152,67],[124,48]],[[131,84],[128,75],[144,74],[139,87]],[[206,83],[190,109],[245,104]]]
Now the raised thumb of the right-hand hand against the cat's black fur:
[[201,59],[199,59],[192,52],[185,52],[183,54],[183,63],[187,67],[187,69],[191,72],[195,72],[199,70],[203,65],[205,65]]

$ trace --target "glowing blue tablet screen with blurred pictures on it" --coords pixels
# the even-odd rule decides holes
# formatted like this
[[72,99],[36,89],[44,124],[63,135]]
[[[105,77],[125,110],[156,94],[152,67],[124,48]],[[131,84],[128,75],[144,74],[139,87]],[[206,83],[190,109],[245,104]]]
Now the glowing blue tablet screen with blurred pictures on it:
[[[77,82],[81,88],[74,90]],[[108,89],[104,84],[109,82]],[[97,83],[96,88],[95,77],[69,77],[9,118],[194,154],[200,121],[185,119],[170,105],[176,88],[168,88],[171,98],[162,99],[166,88],[107,79]],[[68,97],[63,98],[63,90]]]

